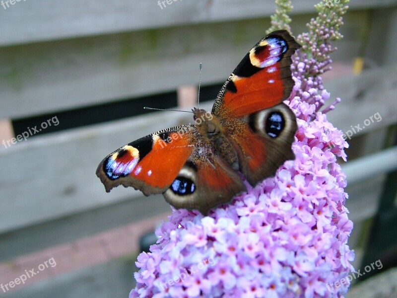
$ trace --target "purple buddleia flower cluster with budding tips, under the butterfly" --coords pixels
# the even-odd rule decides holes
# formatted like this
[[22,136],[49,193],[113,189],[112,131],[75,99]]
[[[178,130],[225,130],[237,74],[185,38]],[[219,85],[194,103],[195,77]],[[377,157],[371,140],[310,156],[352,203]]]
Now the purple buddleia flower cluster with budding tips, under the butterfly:
[[[346,11],[343,0],[316,5],[318,17],[291,66],[295,86],[285,101],[296,114],[292,150],[274,177],[202,216],[175,210],[157,230],[150,252],[141,253],[132,297],[342,297],[353,270],[347,245],[353,224],[336,162],[347,143],[327,120],[331,94],[321,74],[331,69],[331,41]],[[270,30],[289,28],[290,1],[277,0]],[[329,3],[328,3],[329,4]],[[330,7],[329,7],[330,6]],[[330,146],[332,144],[332,146]],[[339,282],[339,287],[334,283]]]

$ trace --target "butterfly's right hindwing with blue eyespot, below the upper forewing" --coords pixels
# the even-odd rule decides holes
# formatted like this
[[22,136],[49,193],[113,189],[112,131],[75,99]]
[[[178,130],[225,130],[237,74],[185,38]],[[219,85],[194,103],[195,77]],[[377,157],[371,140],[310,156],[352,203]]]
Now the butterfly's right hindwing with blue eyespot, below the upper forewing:
[[273,176],[285,160],[295,159],[291,146],[296,130],[295,114],[284,103],[248,115],[241,125],[228,126],[240,170],[252,186]]

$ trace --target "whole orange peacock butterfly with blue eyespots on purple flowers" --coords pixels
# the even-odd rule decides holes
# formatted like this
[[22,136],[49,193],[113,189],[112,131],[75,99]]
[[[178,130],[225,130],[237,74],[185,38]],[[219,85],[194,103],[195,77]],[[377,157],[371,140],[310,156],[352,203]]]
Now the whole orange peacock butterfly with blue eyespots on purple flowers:
[[194,108],[196,125],[155,132],[110,153],[96,175],[109,192],[131,186],[162,193],[175,208],[206,215],[295,159],[296,116],[291,55],[300,45],[286,30],[266,35],[223,84],[211,112]]

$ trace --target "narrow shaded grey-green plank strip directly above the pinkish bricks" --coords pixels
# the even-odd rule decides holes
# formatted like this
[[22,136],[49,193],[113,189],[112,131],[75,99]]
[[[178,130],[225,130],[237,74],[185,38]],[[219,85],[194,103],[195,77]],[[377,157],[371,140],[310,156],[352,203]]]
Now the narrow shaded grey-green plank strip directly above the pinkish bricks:
[[171,209],[162,195],[141,195],[24,226],[0,234],[0,262],[166,213]]

